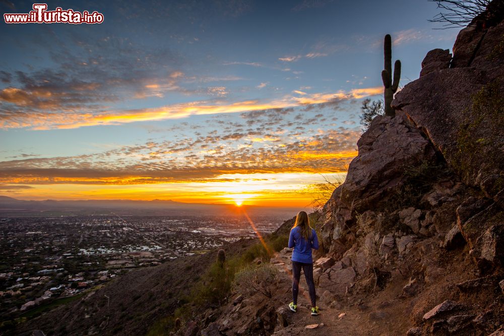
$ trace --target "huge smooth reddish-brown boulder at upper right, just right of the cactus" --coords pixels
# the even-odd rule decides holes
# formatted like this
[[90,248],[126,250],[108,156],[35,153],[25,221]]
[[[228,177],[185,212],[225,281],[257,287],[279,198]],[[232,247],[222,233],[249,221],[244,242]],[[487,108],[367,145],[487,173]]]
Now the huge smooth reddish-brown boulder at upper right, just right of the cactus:
[[392,102],[466,184],[491,198],[504,189],[504,51],[495,42],[504,36],[503,18],[475,20],[458,35],[450,69],[425,71]]

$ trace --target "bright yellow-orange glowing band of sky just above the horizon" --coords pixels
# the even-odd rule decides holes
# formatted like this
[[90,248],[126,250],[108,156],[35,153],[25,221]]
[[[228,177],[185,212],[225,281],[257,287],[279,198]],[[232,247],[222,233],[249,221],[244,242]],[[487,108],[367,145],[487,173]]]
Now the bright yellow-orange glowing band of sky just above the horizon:
[[[345,173],[322,171],[330,174],[330,180],[344,178]],[[341,176],[341,177],[338,177]],[[309,206],[316,198],[313,184],[323,183],[318,173],[232,173],[218,175],[215,180],[191,183],[163,184],[51,184],[51,185],[8,185],[0,187],[0,194],[23,199],[172,199],[199,203],[229,203],[242,200],[248,205],[265,206]],[[29,184],[29,183],[28,183]],[[10,190],[9,190],[10,189]]]

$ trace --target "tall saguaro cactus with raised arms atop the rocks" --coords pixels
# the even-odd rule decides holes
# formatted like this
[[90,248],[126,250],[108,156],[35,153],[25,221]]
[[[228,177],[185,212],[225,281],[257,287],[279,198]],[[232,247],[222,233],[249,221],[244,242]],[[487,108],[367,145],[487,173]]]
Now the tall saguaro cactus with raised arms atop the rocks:
[[396,115],[396,112],[394,112],[390,104],[392,103],[392,99],[394,99],[394,93],[396,93],[399,80],[401,79],[401,61],[398,59],[394,63],[394,81],[392,81],[392,38],[389,34],[385,35],[383,53],[385,57],[385,70],[382,71],[382,81],[385,87],[385,115],[393,117]]

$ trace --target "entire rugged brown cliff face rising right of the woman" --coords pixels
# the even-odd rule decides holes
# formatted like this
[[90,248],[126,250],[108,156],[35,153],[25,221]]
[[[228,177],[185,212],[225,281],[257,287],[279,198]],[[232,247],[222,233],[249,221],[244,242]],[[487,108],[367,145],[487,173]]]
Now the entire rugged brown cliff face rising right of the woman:
[[[392,103],[396,117],[373,120],[324,208],[335,266],[319,290],[352,303],[403,279],[410,334],[489,334],[504,320],[504,10],[492,4],[460,32],[453,57],[426,55]],[[444,305],[429,311],[435,299]]]

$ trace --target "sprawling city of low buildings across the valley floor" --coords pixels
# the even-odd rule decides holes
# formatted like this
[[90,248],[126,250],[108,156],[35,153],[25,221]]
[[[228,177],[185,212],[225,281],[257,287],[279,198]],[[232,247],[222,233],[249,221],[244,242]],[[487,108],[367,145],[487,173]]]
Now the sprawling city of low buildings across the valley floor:
[[37,210],[35,217],[26,216],[23,209],[0,206],[4,215],[25,213],[0,215],[2,321],[37,316],[135,268],[273,232],[295,215],[285,208],[203,207],[207,211],[188,215],[182,209],[182,215],[165,216],[131,215],[124,209],[48,216],[65,213],[51,208]]

